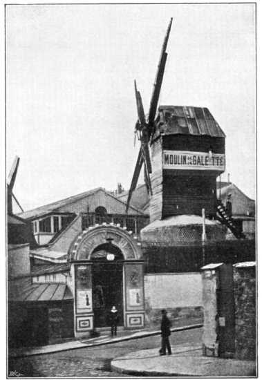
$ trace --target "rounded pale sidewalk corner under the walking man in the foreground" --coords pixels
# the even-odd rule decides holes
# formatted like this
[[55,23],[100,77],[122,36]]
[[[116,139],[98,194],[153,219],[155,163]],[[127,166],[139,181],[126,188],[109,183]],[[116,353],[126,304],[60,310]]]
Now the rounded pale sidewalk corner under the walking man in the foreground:
[[203,357],[201,346],[174,345],[161,356],[156,348],[132,352],[111,361],[114,372],[131,376],[256,377],[254,361]]

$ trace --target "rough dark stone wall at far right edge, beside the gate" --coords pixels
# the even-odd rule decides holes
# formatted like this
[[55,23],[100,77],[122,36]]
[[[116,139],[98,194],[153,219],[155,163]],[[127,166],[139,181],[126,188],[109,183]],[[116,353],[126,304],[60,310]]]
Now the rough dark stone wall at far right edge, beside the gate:
[[256,266],[234,267],[234,303],[238,359],[256,359]]

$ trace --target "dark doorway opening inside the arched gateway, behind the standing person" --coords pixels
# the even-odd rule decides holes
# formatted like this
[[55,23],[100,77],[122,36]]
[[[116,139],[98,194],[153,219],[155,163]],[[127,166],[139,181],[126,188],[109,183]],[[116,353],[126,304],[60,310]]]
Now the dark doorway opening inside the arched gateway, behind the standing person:
[[[113,260],[106,259],[113,255]],[[118,325],[123,319],[123,260],[118,247],[111,243],[100,245],[91,255],[94,327],[110,326],[109,312],[113,306],[118,310]]]

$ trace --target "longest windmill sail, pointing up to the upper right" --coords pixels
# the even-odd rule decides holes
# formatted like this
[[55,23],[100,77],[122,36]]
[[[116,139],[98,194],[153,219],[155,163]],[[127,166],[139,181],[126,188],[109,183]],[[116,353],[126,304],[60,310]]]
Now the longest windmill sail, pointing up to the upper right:
[[158,106],[158,99],[159,99],[161,86],[162,86],[162,80],[163,80],[164,72],[165,72],[165,64],[167,61],[167,53],[166,53],[167,42],[169,39],[172,21],[173,21],[173,18],[171,17],[171,20],[169,22],[169,26],[167,28],[167,33],[165,35],[164,43],[162,45],[160,60],[159,60],[159,64],[158,64],[158,70],[156,72],[156,79],[155,79],[155,82],[153,84],[153,93],[151,96],[151,102],[150,102],[150,107],[149,107],[149,117],[148,117],[149,137],[151,136],[151,133],[153,131],[153,122],[154,122],[155,116],[156,116],[156,108]]

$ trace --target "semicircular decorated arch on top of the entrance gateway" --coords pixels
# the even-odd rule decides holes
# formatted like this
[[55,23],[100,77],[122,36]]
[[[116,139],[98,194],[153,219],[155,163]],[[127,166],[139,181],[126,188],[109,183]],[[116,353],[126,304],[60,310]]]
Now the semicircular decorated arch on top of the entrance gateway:
[[106,243],[108,238],[113,238],[113,244],[121,249],[124,260],[141,258],[140,243],[133,238],[131,232],[116,225],[105,224],[82,231],[71,244],[68,260],[90,260],[95,248]]

